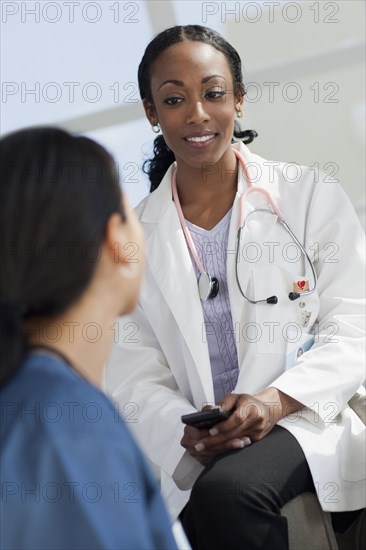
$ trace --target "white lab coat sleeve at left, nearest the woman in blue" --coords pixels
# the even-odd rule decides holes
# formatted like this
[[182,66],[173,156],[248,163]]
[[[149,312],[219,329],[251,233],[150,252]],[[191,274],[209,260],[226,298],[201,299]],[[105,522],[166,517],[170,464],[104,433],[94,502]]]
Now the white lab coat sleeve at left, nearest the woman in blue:
[[[184,431],[181,416],[196,409],[179,390],[142,307],[118,323],[119,341],[106,369],[106,390],[150,461],[174,478],[180,462],[187,466],[185,471],[198,464],[180,445]],[[126,339],[123,334],[128,326],[134,327],[136,334]],[[131,411],[135,414],[129,416]]]

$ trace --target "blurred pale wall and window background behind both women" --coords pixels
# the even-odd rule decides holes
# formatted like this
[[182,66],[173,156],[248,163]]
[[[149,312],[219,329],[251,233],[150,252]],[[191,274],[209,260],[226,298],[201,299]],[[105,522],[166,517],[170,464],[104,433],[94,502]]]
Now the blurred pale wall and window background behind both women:
[[4,1],[1,134],[56,124],[102,143],[136,205],[154,134],[137,67],[173,25],[219,31],[238,50],[252,151],[339,180],[365,226],[365,2]]

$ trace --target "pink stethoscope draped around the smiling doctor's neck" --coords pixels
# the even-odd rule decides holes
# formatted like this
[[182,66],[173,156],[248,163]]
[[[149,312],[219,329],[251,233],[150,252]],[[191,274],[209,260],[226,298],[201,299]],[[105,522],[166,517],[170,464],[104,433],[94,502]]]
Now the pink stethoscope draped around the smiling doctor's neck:
[[[236,257],[235,257],[236,282],[238,284],[241,295],[243,296],[243,298],[247,302],[250,302],[251,304],[259,304],[261,302],[266,302],[267,304],[277,304],[277,302],[278,302],[277,296],[269,296],[269,298],[264,298],[262,300],[251,300],[250,298],[248,298],[244,294],[244,291],[241,287],[239,276],[238,276],[239,245],[240,245],[241,233],[244,229],[245,222],[246,222],[246,220],[245,220],[245,201],[246,201],[248,195],[250,195],[251,193],[262,193],[262,195],[264,195],[264,197],[266,198],[267,204],[269,204],[269,206],[271,207],[271,210],[268,209],[268,208],[256,208],[255,210],[253,210],[253,212],[250,212],[249,214],[247,214],[246,219],[248,219],[249,216],[251,216],[252,214],[254,214],[256,212],[265,212],[267,214],[269,213],[269,214],[272,214],[273,216],[277,216],[278,221],[285,228],[285,230],[290,235],[290,237],[294,241],[294,243],[299,247],[301,253],[305,256],[307,262],[309,263],[309,265],[311,267],[311,272],[312,272],[312,277],[313,277],[313,286],[312,286],[312,288],[310,288],[309,290],[301,292],[301,294],[299,292],[290,292],[289,295],[288,295],[289,299],[293,301],[293,300],[297,300],[298,298],[300,298],[300,296],[303,297],[303,296],[312,294],[316,289],[317,277],[316,277],[316,272],[315,272],[315,269],[314,269],[314,265],[313,265],[312,261],[310,260],[309,255],[307,254],[306,250],[304,249],[304,247],[302,246],[300,241],[297,239],[296,235],[294,235],[293,231],[290,229],[290,227],[286,223],[283,215],[281,214],[280,210],[277,208],[276,204],[274,203],[274,201],[273,201],[271,195],[268,193],[268,191],[266,191],[262,187],[256,187],[252,184],[252,182],[250,180],[250,177],[249,177],[249,174],[248,174],[248,171],[247,171],[247,168],[246,168],[246,165],[245,165],[245,162],[244,162],[243,155],[241,153],[239,153],[239,151],[237,151],[236,149],[233,149],[233,153],[235,154],[235,156],[237,157],[237,159],[240,162],[240,165],[241,165],[242,170],[244,172],[245,180],[246,180],[247,185],[248,185],[247,189],[240,196],[239,228],[238,228],[238,235],[237,235],[237,242],[236,242]],[[202,265],[202,262],[201,262],[201,260],[198,256],[198,254],[197,254],[196,247],[194,245],[191,234],[189,232],[186,221],[184,219],[184,215],[183,215],[183,212],[182,212],[182,207],[180,205],[180,201],[179,201],[179,197],[178,197],[177,169],[175,169],[173,174],[172,174],[172,192],[173,192],[173,199],[174,199],[175,207],[176,207],[177,212],[178,212],[180,224],[181,224],[181,227],[183,229],[184,236],[186,238],[187,246],[188,246],[189,250],[191,251],[193,259],[194,259],[194,261],[197,265],[197,268],[200,272],[200,276],[199,276],[199,279],[198,279],[199,296],[200,296],[200,299],[202,300],[202,302],[205,302],[206,300],[211,299],[211,298],[215,298],[215,296],[217,296],[217,294],[219,292],[219,282],[216,279],[216,277],[211,277],[205,271],[205,269]]]

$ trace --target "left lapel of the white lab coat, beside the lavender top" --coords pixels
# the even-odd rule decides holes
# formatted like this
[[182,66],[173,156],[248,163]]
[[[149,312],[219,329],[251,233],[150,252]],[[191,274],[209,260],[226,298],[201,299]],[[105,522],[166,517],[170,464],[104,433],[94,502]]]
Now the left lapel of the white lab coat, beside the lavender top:
[[172,201],[171,174],[172,167],[141,216],[144,224],[154,224],[146,242],[148,264],[192,355],[191,365],[186,365],[188,374],[192,368],[198,371],[202,401],[214,402],[209,354],[202,338],[204,320],[197,279]]

